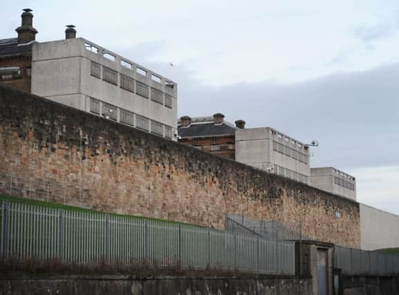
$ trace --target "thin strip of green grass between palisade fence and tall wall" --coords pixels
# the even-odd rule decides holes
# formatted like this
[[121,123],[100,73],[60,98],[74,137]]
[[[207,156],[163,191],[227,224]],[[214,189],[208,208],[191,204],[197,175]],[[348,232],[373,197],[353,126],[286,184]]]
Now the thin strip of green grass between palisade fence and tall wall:
[[[143,216],[134,216],[134,215],[126,215],[126,214],[118,214],[118,213],[109,213],[109,212],[103,212],[103,211],[96,211],[93,209],[86,209],[86,208],[82,208],[82,207],[69,206],[69,205],[65,205],[65,204],[57,204],[57,203],[53,203],[53,202],[46,202],[46,201],[35,200],[35,199],[19,198],[19,197],[8,196],[8,195],[0,195],[0,202],[1,201],[15,202],[15,203],[19,203],[19,204],[30,204],[30,205],[34,205],[34,206],[38,206],[38,207],[63,209],[63,210],[67,210],[67,211],[108,214],[111,216],[124,216],[124,217],[129,217],[129,218],[162,221],[162,222],[168,222],[168,223],[174,223],[174,224],[180,224],[180,225],[191,225],[189,223],[177,222],[177,221],[173,221],[173,220],[149,218],[149,217],[143,217]],[[192,225],[192,226],[202,227],[200,225]]]

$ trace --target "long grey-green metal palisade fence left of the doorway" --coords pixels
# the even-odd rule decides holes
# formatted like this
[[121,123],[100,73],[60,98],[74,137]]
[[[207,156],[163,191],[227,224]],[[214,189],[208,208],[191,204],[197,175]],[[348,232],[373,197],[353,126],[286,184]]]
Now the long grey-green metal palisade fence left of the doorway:
[[1,202],[1,256],[295,274],[295,245],[160,220]]

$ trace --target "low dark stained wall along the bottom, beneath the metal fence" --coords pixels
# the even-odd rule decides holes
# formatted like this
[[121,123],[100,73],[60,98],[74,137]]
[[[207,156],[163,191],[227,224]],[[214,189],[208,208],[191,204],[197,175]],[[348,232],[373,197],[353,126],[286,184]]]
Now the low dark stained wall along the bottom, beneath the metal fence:
[[187,278],[134,276],[0,277],[0,294],[290,295],[312,294],[310,278]]

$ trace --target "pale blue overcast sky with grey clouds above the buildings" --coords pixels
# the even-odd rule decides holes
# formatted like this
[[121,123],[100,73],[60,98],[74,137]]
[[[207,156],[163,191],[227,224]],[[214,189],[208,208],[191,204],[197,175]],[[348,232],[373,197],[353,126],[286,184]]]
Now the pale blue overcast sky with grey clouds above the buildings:
[[360,202],[399,213],[398,0],[8,1],[0,37],[16,36],[22,8],[38,41],[74,24],[174,79],[179,116],[319,140],[312,166],[351,173]]

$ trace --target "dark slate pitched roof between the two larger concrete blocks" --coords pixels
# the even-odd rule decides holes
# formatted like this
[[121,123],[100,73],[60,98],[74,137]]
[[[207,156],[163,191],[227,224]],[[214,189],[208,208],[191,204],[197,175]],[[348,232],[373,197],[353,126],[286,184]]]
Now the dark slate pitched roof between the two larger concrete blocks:
[[226,121],[221,124],[214,124],[211,117],[193,117],[192,123],[187,127],[182,127],[178,122],[178,135],[181,137],[205,137],[215,135],[234,135],[236,127]]

